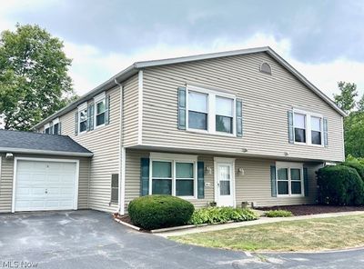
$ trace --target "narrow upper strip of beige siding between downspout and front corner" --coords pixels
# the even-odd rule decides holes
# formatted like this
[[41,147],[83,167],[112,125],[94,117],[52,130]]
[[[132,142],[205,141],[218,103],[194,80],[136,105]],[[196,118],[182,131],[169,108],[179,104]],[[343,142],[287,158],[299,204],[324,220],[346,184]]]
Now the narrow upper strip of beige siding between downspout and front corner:
[[138,75],[127,80],[123,90],[123,144],[131,146],[136,145],[138,139]]

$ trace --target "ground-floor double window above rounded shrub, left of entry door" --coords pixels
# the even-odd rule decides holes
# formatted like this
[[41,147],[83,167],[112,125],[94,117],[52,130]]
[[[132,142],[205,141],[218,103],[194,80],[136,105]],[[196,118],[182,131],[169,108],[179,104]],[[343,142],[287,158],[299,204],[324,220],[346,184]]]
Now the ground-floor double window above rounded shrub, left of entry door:
[[[163,159],[164,158],[164,159]],[[197,158],[174,154],[151,154],[151,188],[149,194],[181,197],[197,196]]]

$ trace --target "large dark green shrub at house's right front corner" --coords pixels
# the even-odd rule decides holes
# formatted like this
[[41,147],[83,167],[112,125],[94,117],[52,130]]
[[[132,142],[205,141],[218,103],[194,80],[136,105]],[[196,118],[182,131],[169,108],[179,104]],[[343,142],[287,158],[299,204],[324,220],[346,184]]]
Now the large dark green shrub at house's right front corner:
[[319,203],[359,205],[363,203],[364,184],[354,168],[326,166],[318,171]]

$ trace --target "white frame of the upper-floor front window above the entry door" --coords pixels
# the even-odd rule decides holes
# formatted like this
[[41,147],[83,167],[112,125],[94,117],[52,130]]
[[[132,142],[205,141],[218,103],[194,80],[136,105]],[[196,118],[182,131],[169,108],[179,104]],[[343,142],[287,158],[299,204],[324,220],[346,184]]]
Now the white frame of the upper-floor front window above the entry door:
[[[188,105],[188,93],[191,92],[197,92],[201,94],[207,95],[207,130],[199,130],[194,128],[189,128],[188,126],[188,111],[189,111],[189,105]],[[233,132],[232,134],[226,133],[226,132],[217,132],[216,131],[216,96],[225,97],[228,99],[233,100]],[[201,134],[219,134],[224,136],[236,136],[237,135],[237,113],[236,113],[236,107],[237,107],[237,97],[236,95],[228,94],[226,92],[220,92],[217,90],[207,89],[195,85],[187,85],[187,94],[186,94],[186,130],[188,132],[192,133],[201,133]]]

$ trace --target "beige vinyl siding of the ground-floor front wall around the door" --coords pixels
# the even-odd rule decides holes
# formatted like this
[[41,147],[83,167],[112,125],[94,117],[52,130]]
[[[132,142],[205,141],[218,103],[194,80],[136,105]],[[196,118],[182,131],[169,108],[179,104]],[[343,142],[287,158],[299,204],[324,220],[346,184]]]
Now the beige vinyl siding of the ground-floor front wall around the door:
[[[148,157],[149,152],[147,151],[126,150],[126,210],[127,204],[140,196],[140,159]],[[198,155],[197,160],[204,162],[205,168],[211,167],[213,172],[212,174],[205,172],[205,183],[209,184],[209,186],[205,186],[205,198],[188,200],[197,208],[215,201],[214,157],[214,155]],[[241,206],[242,202],[255,202],[257,206],[315,203],[317,195],[315,171],[321,167],[319,164],[304,164],[305,167],[308,167],[308,197],[272,197],[270,165],[275,164],[274,160],[262,158],[236,159],[235,170],[241,167],[245,171],[244,175],[236,173],[235,177],[237,206]]]

